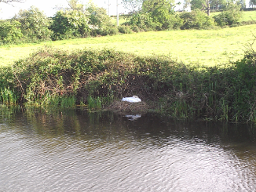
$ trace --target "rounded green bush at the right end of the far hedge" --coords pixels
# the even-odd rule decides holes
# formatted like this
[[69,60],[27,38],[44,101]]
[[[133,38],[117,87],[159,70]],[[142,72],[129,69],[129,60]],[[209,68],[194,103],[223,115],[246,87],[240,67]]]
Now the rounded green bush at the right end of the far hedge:
[[240,11],[240,5],[233,3],[229,3],[223,12],[214,16],[215,22],[221,27],[225,25],[238,24],[241,18],[242,12]]

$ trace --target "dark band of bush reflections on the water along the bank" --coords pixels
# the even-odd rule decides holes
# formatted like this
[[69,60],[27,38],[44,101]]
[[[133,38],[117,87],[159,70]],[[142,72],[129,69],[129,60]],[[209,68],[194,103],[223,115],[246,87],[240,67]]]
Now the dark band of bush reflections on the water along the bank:
[[101,143],[121,140],[162,143],[175,138],[210,144],[256,141],[254,125],[174,121],[157,114],[142,114],[136,121],[130,121],[124,114],[110,111],[56,110],[49,114],[36,110],[9,113],[2,110],[1,121],[15,129],[24,129],[25,134],[36,132],[46,138],[70,137],[101,140]]

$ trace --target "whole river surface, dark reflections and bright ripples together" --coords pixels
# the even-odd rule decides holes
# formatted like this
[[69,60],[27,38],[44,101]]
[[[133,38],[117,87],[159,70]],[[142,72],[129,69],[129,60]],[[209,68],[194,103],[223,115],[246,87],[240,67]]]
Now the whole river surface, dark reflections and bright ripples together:
[[155,114],[0,117],[0,191],[255,191],[256,129]]

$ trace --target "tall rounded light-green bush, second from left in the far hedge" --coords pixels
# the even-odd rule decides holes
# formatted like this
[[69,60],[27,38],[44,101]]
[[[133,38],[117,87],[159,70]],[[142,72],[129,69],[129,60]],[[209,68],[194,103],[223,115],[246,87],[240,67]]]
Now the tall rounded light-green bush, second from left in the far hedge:
[[20,10],[13,20],[20,22],[20,29],[24,37],[35,40],[46,40],[50,38],[48,18],[34,6],[27,10]]

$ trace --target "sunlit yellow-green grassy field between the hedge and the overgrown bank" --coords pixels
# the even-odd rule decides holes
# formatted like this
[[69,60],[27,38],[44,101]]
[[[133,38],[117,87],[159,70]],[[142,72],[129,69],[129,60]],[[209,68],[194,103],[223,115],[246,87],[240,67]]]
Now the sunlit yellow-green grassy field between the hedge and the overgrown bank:
[[2,45],[0,66],[10,65],[14,60],[27,57],[44,45],[69,50],[112,48],[137,55],[166,55],[188,64],[213,66],[242,58],[246,44],[254,39],[252,33],[255,30],[256,24],[219,30],[158,31],[38,44]]

